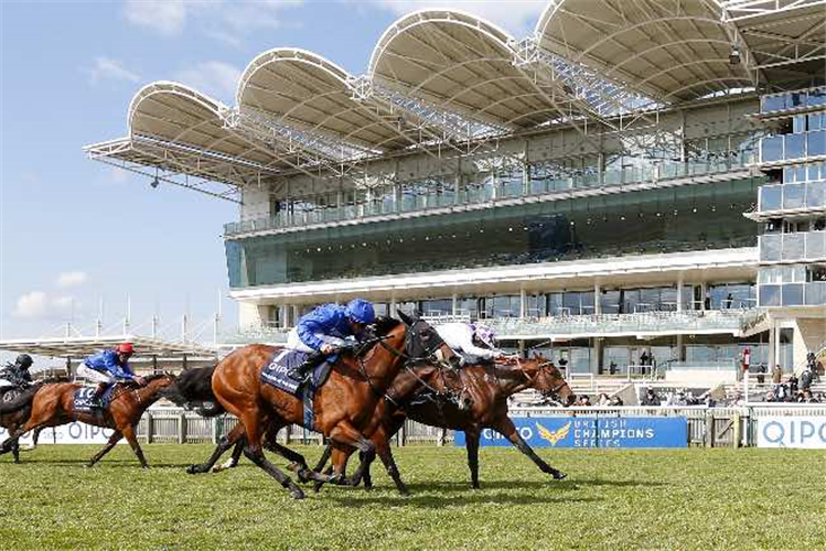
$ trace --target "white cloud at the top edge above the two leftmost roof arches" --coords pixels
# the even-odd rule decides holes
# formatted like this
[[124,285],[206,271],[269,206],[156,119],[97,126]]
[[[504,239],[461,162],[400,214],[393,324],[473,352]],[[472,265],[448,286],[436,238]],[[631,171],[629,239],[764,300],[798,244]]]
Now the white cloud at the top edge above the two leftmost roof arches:
[[240,45],[253,30],[281,26],[280,11],[301,6],[303,0],[128,0],[124,14],[130,23],[159,34],[176,36],[192,20],[207,36]]

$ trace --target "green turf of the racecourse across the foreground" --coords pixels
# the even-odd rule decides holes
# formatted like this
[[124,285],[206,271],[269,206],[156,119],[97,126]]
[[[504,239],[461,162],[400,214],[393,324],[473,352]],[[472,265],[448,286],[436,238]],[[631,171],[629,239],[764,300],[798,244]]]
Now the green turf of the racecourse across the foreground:
[[92,469],[81,462],[95,446],[42,446],[22,465],[0,458],[0,549],[826,548],[817,451],[540,452],[569,474],[559,483],[515,450],[483,450],[482,489],[471,490],[463,450],[406,447],[396,457],[410,497],[376,468],[373,491],[308,488],[294,501],[246,462],[185,474],[211,446],[144,450],[148,472],[128,446]]

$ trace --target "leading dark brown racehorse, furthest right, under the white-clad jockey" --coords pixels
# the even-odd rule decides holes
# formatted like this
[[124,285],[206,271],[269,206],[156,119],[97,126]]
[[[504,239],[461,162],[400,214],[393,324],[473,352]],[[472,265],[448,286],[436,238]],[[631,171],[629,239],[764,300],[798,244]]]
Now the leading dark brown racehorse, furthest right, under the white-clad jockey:
[[[389,441],[401,428],[405,419],[409,418],[430,426],[464,431],[465,445],[468,449],[468,466],[471,471],[471,485],[479,488],[479,439],[483,429],[493,429],[504,435],[522,453],[527,455],[543,473],[551,475],[561,480],[567,475],[548,465],[525,442],[513,421],[507,417],[507,398],[522,390],[533,388],[546,398],[558,397],[564,403],[573,403],[575,395],[553,363],[536,355],[528,360],[496,361],[494,364],[480,364],[465,366],[460,370],[462,386],[470,400],[469,407],[460,408],[457,403],[433,399],[428,396],[432,390],[421,389],[418,395],[401,408],[388,409],[383,423],[376,432],[371,435],[374,441]],[[435,379],[436,391],[443,392],[443,380]],[[315,471],[321,472],[324,464],[332,454],[333,465],[336,469],[343,468],[353,449],[333,450],[328,446],[322,454]],[[369,461],[363,462],[364,484],[372,485],[369,475]],[[331,467],[332,468],[332,467]],[[360,468],[362,468],[360,466]],[[330,469],[328,469],[328,473]],[[354,478],[357,478],[358,474]],[[315,489],[321,487],[317,482]]]

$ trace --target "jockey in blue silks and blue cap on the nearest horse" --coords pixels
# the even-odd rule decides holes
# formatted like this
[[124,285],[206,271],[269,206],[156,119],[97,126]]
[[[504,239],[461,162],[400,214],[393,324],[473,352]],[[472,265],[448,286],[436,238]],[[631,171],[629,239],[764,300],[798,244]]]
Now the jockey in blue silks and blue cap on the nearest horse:
[[291,370],[290,377],[303,380],[326,356],[347,345],[347,341],[358,338],[375,321],[373,304],[364,299],[353,299],[346,306],[324,304],[301,317],[287,336],[287,348],[312,356]]

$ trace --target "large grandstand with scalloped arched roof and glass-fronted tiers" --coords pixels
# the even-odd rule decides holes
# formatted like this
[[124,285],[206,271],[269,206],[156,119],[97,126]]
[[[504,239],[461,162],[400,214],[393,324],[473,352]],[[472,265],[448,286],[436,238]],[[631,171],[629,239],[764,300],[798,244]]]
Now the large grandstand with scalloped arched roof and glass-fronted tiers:
[[733,381],[826,336],[825,29],[822,0],[553,1],[522,39],[425,10],[364,75],[277,47],[234,106],[149,84],[86,151],[240,205],[227,344],[364,296],[569,375]]

